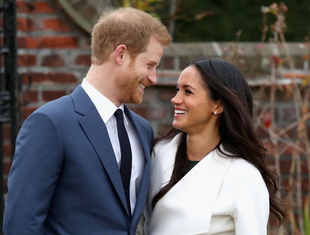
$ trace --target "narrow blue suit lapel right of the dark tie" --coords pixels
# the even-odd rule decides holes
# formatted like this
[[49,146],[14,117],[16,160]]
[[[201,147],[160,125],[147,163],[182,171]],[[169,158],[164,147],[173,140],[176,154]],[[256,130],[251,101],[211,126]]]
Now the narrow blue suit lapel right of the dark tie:
[[150,147],[147,146],[145,143],[145,137],[144,132],[142,131],[142,125],[133,117],[131,114],[131,111],[124,105],[124,112],[126,113],[127,117],[129,117],[132,124],[135,126],[135,129],[137,131],[137,134],[139,136],[140,144],[142,145],[142,148],[144,150],[144,157],[146,159],[144,172],[142,175],[142,180],[140,184],[140,190],[138,193],[138,197],[135,204],[135,209],[132,214],[132,221],[131,226],[135,225],[135,222],[139,219],[140,213],[143,209],[145,198],[148,192],[148,185],[149,185],[149,179],[150,179]]

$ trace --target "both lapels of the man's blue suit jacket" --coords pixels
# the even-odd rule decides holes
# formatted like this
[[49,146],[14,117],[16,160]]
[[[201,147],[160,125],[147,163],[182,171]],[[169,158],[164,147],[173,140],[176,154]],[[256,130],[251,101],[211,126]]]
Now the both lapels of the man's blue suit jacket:
[[[104,169],[106,170],[111,182],[119,196],[122,205],[125,207],[128,216],[129,211],[126,203],[126,197],[123,189],[121,175],[119,173],[119,168],[117,165],[116,157],[113,151],[113,147],[109,140],[109,135],[107,128],[100,117],[95,105],[92,103],[89,96],[86,94],[81,85],[79,85],[71,94],[74,110],[75,112],[81,114],[83,117],[81,118],[80,124],[93,145],[96,153],[98,154],[100,161],[102,162]],[[132,216],[132,222],[134,223],[140,215],[142,207],[144,205],[146,192],[148,188],[148,180],[149,180],[149,161],[150,153],[149,148],[144,140],[144,133],[142,132],[143,126],[136,120],[131,111],[124,105],[124,112],[129,117],[135,129],[138,133],[140,143],[144,149],[144,155],[147,160],[145,170],[142,176],[140,190],[138,193],[135,210]],[[145,194],[145,195],[144,195]],[[141,204],[141,205],[140,205]],[[142,206],[142,207],[141,207]],[[141,207],[141,208],[140,208]],[[130,217],[130,216],[129,216]]]

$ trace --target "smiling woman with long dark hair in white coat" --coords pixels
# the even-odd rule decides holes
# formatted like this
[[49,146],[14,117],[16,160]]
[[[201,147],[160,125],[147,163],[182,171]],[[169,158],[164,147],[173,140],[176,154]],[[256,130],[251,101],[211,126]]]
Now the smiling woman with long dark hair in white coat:
[[269,211],[283,223],[279,177],[241,72],[218,58],[194,60],[171,102],[174,128],[155,140],[144,233],[263,235]]

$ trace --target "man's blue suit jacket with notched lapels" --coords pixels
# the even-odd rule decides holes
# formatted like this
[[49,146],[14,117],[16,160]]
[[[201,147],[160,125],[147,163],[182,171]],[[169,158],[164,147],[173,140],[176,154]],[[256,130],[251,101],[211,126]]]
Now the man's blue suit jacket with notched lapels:
[[153,129],[124,106],[146,165],[130,219],[104,122],[81,86],[45,104],[20,129],[8,179],[5,235],[135,234],[149,184]]

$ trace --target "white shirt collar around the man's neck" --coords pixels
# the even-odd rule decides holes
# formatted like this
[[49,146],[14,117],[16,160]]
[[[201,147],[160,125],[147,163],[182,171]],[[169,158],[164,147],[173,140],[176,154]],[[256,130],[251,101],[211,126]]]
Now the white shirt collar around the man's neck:
[[113,104],[107,97],[97,91],[96,88],[87,82],[85,78],[83,79],[81,86],[95,105],[104,123],[108,122],[108,120],[115,113],[116,109],[122,109],[125,123],[128,125],[126,116],[124,114],[124,103],[122,103],[117,108],[115,104]]

